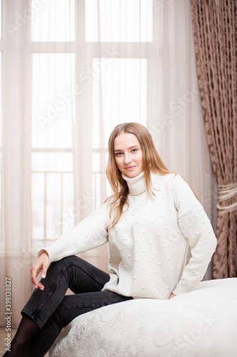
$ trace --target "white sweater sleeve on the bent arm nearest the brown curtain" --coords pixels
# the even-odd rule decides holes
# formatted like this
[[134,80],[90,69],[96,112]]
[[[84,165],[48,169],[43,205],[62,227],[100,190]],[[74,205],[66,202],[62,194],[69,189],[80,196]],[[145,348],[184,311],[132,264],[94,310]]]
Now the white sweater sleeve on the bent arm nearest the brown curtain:
[[191,258],[173,293],[191,291],[204,277],[216,249],[216,236],[211,222],[189,184],[177,175],[172,183],[174,204],[177,208],[179,228],[189,241]]

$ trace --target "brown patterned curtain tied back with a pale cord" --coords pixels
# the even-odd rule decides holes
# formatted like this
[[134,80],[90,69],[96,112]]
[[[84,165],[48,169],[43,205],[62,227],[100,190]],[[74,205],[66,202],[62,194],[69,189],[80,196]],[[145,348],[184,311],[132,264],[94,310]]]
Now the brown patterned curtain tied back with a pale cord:
[[237,1],[191,0],[201,106],[218,183],[214,278],[237,273]]

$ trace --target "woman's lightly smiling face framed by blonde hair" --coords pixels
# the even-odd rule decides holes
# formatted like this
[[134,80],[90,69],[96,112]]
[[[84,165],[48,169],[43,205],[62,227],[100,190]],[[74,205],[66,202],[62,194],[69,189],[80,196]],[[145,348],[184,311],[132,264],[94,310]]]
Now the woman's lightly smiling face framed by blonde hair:
[[137,136],[131,133],[122,133],[115,138],[115,161],[122,174],[136,177],[143,171],[142,149]]

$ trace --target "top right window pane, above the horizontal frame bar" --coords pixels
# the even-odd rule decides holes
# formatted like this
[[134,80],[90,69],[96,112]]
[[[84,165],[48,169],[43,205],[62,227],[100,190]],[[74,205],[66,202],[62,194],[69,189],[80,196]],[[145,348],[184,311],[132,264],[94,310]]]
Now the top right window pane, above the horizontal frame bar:
[[152,42],[152,4],[152,0],[85,0],[85,41]]

